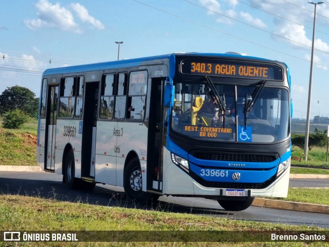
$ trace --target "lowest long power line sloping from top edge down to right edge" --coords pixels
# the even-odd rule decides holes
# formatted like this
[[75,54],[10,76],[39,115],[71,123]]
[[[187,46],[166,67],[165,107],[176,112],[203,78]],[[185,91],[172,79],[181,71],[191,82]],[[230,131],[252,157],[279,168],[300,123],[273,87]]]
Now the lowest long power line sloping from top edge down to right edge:
[[[145,3],[142,3],[142,2],[140,2],[140,1],[137,1],[137,0],[133,0],[133,1],[136,2],[136,3],[142,4],[142,5],[148,6],[148,7],[150,7],[150,8],[153,8],[153,9],[159,10],[159,11],[161,11],[161,12],[164,12],[164,13],[170,14],[170,15],[175,16],[175,17],[177,17],[177,18],[180,18],[180,19],[182,19],[182,20],[185,20],[185,21],[191,22],[191,23],[193,23],[193,24],[196,24],[196,25],[199,25],[199,26],[202,26],[202,27],[205,27],[205,28],[211,29],[211,30],[213,30],[213,31],[220,32],[220,33],[223,33],[223,34],[225,34],[225,35],[228,35],[228,36],[234,37],[235,39],[239,39],[239,40],[242,40],[242,41],[248,42],[248,43],[253,44],[253,45],[257,45],[257,46],[260,46],[260,47],[263,47],[263,48],[266,48],[266,49],[269,49],[269,50],[272,50],[272,51],[279,52],[279,53],[284,54],[284,55],[287,55],[287,56],[291,56],[291,57],[296,58],[296,59],[300,59],[300,60],[303,60],[303,61],[309,62],[308,60],[306,60],[306,59],[302,59],[302,58],[299,58],[298,56],[295,56],[295,55],[292,55],[292,54],[289,54],[289,53],[285,53],[285,52],[283,52],[283,51],[279,51],[279,50],[276,50],[276,49],[273,49],[273,48],[270,48],[270,47],[267,47],[267,46],[264,46],[264,45],[261,45],[261,44],[258,44],[258,43],[255,43],[255,42],[252,42],[252,41],[248,41],[248,40],[246,40],[246,39],[243,39],[242,37],[238,37],[238,36],[235,36],[235,35],[233,35],[233,34],[229,34],[229,33],[223,32],[223,31],[221,31],[221,30],[218,30],[218,29],[215,29],[215,28],[209,27],[209,26],[204,25],[204,24],[202,24],[202,23],[198,23],[198,22],[192,21],[192,20],[190,20],[190,19],[188,19],[188,18],[185,18],[185,17],[179,16],[179,15],[176,15],[176,14],[170,13],[170,12],[168,12],[168,11],[165,11],[165,10],[162,10],[162,9],[159,9],[159,8],[156,8],[156,7],[154,7],[154,6],[151,6],[151,5],[148,5],[148,4],[145,4]],[[314,64],[319,65],[319,66],[322,66],[322,67],[325,67],[325,68],[329,68],[329,66],[325,66],[325,65],[322,65],[322,64],[317,64],[317,63],[314,63]]]

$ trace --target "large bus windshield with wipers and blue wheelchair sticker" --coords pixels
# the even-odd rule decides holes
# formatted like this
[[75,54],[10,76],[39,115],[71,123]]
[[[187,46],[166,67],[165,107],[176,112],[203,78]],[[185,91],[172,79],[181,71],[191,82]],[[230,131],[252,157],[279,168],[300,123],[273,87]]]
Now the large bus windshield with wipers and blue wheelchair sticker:
[[176,83],[172,129],[207,141],[284,140],[289,136],[288,91],[265,83]]

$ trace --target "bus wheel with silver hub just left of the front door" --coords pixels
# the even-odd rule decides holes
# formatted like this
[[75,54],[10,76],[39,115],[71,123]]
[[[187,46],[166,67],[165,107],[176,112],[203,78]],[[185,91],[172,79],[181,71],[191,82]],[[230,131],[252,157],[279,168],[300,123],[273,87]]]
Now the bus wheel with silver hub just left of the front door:
[[142,191],[142,173],[137,157],[130,160],[123,173],[124,192],[135,203],[147,204],[152,194]]

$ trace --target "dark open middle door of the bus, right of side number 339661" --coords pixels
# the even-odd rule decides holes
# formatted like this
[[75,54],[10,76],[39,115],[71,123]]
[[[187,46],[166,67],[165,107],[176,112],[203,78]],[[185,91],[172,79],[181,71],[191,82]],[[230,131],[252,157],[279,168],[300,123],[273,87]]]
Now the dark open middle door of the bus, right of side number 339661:
[[99,82],[85,83],[85,105],[81,147],[81,178],[88,181],[95,179],[97,102],[99,97],[98,88]]

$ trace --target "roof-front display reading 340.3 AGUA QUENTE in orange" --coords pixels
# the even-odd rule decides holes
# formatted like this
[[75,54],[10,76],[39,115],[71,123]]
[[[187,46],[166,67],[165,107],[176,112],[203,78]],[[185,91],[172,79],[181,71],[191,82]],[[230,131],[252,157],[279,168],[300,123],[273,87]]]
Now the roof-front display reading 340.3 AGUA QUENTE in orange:
[[245,61],[186,59],[181,62],[181,73],[260,80],[283,80],[283,71],[280,66]]

